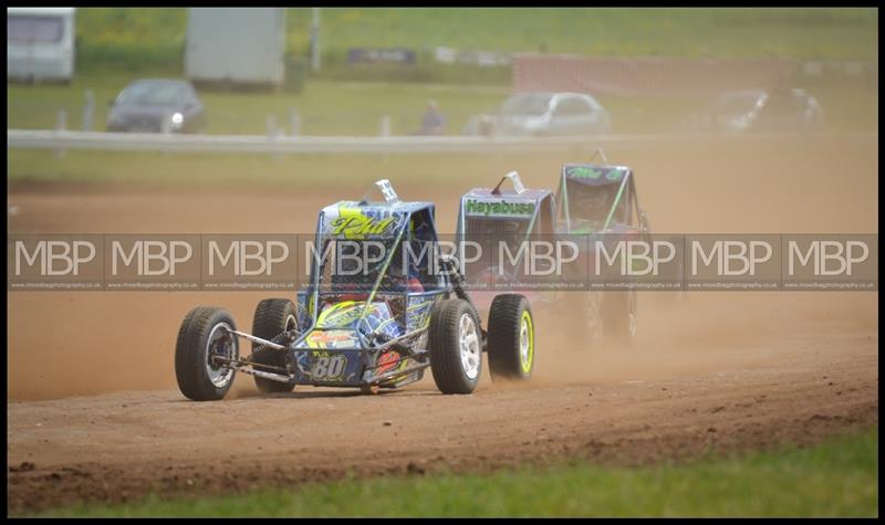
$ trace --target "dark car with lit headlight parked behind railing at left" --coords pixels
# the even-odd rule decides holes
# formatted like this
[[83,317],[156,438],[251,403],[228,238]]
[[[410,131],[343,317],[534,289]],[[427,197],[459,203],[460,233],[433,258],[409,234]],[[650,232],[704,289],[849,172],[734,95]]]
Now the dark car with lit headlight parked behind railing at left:
[[107,115],[108,132],[201,134],[205,128],[202,103],[187,81],[135,81],[117,95]]

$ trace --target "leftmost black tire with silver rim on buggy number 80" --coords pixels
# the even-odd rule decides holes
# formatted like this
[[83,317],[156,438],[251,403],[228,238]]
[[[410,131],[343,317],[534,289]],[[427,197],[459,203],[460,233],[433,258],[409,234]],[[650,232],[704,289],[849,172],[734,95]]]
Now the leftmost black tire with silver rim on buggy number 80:
[[217,401],[233,385],[237,370],[210,360],[211,354],[239,357],[237,336],[226,334],[222,327],[237,329],[230,314],[212,306],[197,306],[181,322],[175,344],[175,378],[188,399]]

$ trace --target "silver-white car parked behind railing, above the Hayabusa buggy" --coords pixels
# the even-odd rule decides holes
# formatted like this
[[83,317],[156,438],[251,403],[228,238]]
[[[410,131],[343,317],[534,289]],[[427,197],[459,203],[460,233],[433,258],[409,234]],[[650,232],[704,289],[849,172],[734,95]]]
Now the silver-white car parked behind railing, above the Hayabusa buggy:
[[473,117],[466,135],[544,136],[605,134],[608,112],[582,93],[519,93],[492,115]]

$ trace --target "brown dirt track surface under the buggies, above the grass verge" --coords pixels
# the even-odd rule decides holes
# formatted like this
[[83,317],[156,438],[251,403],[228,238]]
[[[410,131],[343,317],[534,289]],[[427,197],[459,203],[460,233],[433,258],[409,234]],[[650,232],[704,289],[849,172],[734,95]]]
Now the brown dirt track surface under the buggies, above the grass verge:
[[[264,398],[243,388],[239,398],[215,403],[171,390],[13,402],[10,512],[149,490],[295,484],[347,471],[488,470],[562,455],[623,464],[810,443],[877,424],[877,336],[868,323],[815,323],[818,329],[761,348],[710,347],[711,355],[740,355],[699,353],[694,368],[705,372],[652,371],[649,363],[665,359],[646,348],[595,356],[592,375],[607,380],[553,386],[544,374],[532,387],[487,380],[472,396],[442,396],[423,381],[378,396],[305,388]],[[633,360],[645,366],[634,370]],[[623,379],[611,379],[607,361]]]

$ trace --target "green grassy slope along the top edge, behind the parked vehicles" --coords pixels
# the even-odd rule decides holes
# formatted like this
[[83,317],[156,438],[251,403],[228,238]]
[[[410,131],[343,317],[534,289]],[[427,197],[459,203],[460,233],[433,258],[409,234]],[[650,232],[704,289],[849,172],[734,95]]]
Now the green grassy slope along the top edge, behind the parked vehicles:
[[[287,13],[288,49],[308,51],[310,8]],[[86,67],[180,67],[184,8],[82,8]],[[324,61],[354,46],[686,57],[877,57],[875,9],[323,8]],[[135,59],[135,60],[134,60]]]

